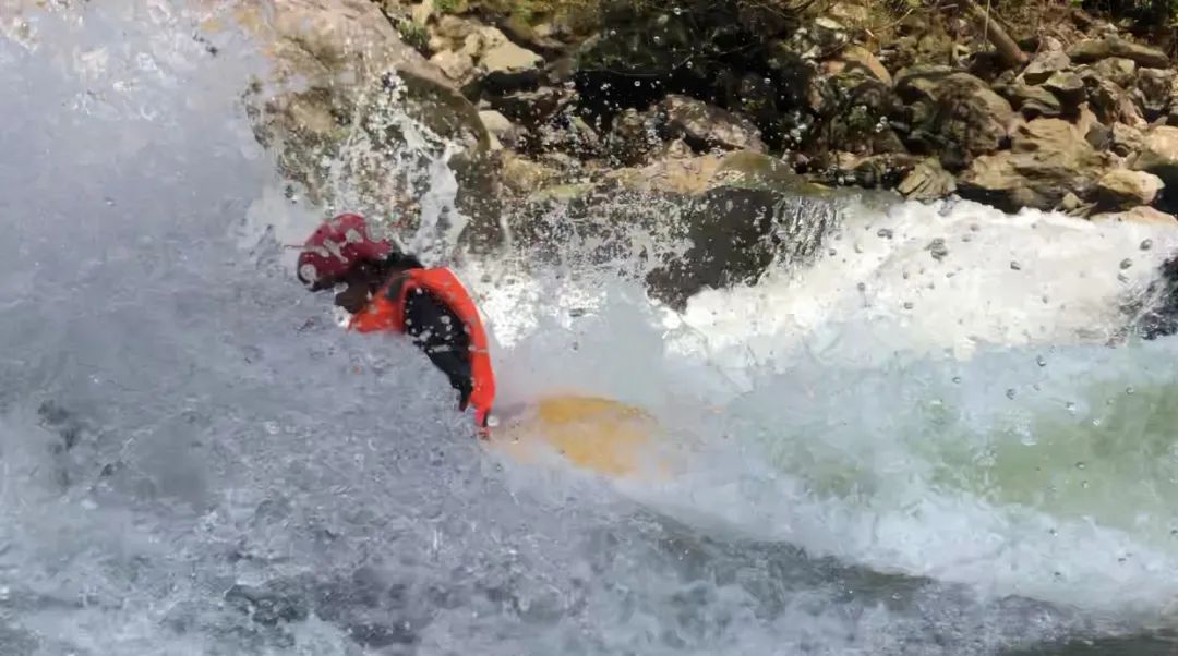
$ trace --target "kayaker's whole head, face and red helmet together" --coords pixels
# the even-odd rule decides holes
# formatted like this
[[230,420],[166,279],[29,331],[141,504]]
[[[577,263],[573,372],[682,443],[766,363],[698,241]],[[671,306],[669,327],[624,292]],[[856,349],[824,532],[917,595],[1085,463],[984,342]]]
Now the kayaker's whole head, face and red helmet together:
[[336,294],[336,305],[356,313],[392,271],[412,266],[419,267],[421,263],[386,240],[372,239],[363,217],[339,214],[306,240],[297,274],[313,292],[346,285]]

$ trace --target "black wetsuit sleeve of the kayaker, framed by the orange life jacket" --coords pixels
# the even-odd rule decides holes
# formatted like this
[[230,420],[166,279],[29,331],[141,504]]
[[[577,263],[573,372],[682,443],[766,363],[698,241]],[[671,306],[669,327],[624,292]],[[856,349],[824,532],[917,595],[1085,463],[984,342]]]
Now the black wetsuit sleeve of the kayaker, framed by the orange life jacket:
[[466,331],[458,316],[434,294],[416,289],[406,296],[405,332],[450,379],[450,386],[458,391],[462,410],[466,409],[474,390]]

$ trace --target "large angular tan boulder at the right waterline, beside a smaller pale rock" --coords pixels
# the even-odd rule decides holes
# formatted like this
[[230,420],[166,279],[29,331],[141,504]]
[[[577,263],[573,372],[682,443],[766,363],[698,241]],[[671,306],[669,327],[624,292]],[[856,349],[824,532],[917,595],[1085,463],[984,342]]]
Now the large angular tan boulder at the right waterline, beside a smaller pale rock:
[[1015,128],[1010,151],[978,158],[958,188],[964,198],[1008,212],[1052,210],[1068,193],[1092,197],[1107,164],[1078,126],[1035,119]]

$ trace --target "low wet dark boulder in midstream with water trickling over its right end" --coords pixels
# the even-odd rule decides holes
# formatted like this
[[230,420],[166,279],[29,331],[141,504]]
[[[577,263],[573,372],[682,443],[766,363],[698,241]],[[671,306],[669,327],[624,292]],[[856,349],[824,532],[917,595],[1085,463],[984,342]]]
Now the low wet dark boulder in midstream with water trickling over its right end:
[[620,250],[642,252],[651,264],[648,292],[679,310],[703,289],[753,283],[774,263],[812,259],[839,225],[833,205],[796,190],[693,188],[565,185],[535,194],[504,220],[528,261],[561,261],[574,244],[587,264],[613,265]]

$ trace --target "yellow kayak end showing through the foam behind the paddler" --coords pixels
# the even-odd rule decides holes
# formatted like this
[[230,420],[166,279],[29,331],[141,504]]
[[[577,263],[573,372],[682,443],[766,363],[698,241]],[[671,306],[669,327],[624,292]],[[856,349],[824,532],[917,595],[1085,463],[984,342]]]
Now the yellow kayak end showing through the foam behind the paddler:
[[590,396],[549,396],[509,415],[490,445],[525,463],[557,453],[570,464],[610,477],[666,477],[666,437],[641,407]]

